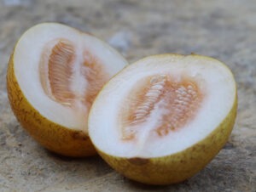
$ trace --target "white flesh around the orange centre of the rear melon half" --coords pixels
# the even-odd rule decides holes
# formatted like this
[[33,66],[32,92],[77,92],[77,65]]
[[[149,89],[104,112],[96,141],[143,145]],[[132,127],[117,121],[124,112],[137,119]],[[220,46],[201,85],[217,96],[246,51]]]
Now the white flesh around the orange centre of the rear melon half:
[[[49,50],[51,48],[53,50],[61,41],[66,41],[66,44],[67,42],[73,44],[73,53],[75,54],[74,73],[79,73],[81,62],[83,63],[84,60],[90,60],[93,57],[104,68],[105,73],[108,74],[108,78],[104,80],[104,83],[127,65],[127,62],[105,42],[67,25],[57,23],[35,25],[26,31],[17,42],[13,55],[14,70],[17,82],[26,99],[49,121],[53,121],[63,127],[83,130],[87,133],[87,115],[90,106],[85,105],[84,107],[81,101],[73,102],[73,107],[70,107],[71,104],[66,104],[66,101],[61,103],[60,99],[55,99],[50,93],[47,93],[47,89],[49,89],[47,86],[49,85],[47,85],[47,82],[44,83],[44,77],[40,76],[39,71],[45,70],[45,64],[42,65],[42,63],[47,65],[47,62],[44,61],[45,53],[46,57],[49,58]],[[86,62],[84,62],[84,65],[86,65]],[[81,78],[77,76],[74,78],[74,89],[80,91],[83,90],[82,86],[84,86],[84,89],[87,88],[87,82],[81,86],[83,80],[81,81]],[[98,79],[100,78],[98,77]],[[91,92],[91,90],[88,91],[86,89],[85,92]]]

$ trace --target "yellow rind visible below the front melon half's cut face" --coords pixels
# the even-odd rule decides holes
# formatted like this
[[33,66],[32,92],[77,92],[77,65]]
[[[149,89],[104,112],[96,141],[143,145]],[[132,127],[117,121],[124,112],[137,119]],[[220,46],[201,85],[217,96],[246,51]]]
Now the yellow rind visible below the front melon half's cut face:
[[143,184],[177,184],[200,172],[229,139],[236,119],[237,99],[224,121],[207,138],[186,150],[158,158],[122,158],[98,150],[110,167]]

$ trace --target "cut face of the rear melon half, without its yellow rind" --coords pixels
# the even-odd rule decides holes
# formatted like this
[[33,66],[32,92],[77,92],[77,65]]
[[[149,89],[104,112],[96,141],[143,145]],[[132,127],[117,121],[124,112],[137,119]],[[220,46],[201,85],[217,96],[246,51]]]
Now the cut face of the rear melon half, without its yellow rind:
[[50,121],[85,133],[96,94],[125,65],[96,37],[52,23],[26,31],[14,53],[17,82],[32,106]]

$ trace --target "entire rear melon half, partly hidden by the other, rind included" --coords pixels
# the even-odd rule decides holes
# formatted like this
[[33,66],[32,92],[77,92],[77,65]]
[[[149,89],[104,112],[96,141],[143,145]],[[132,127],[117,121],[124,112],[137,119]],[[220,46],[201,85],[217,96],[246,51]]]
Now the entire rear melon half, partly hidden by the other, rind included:
[[127,62],[108,44],[44,23],[20,37],[9,60],[9,101],[20,124],[61,155],[95,155],[87,118],[96,94]]

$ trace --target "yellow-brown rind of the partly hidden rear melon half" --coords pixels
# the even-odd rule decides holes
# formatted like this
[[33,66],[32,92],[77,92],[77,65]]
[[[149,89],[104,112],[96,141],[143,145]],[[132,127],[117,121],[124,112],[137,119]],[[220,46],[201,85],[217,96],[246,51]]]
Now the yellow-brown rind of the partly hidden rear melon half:
[[11,55],[7,71],[9,103],[18,121],[28,133],[46,149],[60,155],[81,157],[96,155],[96,150],[86,133],[63,127],[42,116],[20,90]]

